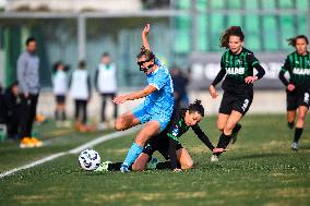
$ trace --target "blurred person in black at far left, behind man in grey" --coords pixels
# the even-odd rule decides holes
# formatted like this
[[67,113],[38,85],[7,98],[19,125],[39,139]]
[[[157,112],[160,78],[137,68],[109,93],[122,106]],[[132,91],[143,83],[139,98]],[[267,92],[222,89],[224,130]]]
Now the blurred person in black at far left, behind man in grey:
[[21,120],[21,98],[19,96],[19,83],[14,82],[4,93],[5,117],[9,138],[17,138]]

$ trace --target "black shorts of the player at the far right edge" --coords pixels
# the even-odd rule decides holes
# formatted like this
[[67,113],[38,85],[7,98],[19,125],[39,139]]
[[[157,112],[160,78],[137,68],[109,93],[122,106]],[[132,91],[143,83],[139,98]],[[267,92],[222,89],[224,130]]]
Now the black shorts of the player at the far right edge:
[[296,110],[299,106],[309,108],[310,89],[295,89],[293,92],[286,90],[286,109]]

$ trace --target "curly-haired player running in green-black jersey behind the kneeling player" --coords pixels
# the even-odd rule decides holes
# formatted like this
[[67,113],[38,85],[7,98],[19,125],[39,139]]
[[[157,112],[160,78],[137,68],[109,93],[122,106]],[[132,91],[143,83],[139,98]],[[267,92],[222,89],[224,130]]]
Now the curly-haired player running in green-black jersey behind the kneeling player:
[[[239,26],[227,28],[220,37],[220,47],[228,50],[223,53],[220,71],[210,86],[210,94],[215,99],[218,96],[215,86],[226,75],[222,84],[224,95],[217,117],[217,128],[223,132],[216,146],[218,148],[226,148],[230,141],[236,141],[241,129],[238,122],[252,104],[253,83],[265,74],[253,52],[243,48],[243,39],[245,35]],[[253,68],[258,71],[257,75],[253,75]],[[214,153],[211,161],[218,161],[219,154]]]

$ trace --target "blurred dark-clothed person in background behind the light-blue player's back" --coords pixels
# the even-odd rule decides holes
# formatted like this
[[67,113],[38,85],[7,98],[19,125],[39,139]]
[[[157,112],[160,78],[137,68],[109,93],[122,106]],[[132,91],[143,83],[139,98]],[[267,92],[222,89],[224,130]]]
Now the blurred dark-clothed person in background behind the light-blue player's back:
[[184,105],[182,101],[187,99],[187,85],[189,84],[189,80],[177,66],[171,69],[171,77],[174,82],[175,108],[179,109]]

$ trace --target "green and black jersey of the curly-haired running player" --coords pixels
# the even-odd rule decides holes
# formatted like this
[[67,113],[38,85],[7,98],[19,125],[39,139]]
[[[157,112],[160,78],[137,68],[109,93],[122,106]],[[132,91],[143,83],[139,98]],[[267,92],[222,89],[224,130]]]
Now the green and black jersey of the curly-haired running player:
[[254,57],[253,52],[242,48],[241,52],[234,54],[230,49],[225,51],[220,59],[220,71],[212,85],[216,85],[226,77],[223,82],[224,90],[243,92],[245,89],[252,88],[253,84],[247,84],[245,78],[253,76],[253,68],[258,70],[258,77],[261,78],[265,72],[260,65],[259,60]]

